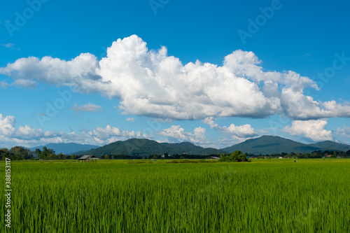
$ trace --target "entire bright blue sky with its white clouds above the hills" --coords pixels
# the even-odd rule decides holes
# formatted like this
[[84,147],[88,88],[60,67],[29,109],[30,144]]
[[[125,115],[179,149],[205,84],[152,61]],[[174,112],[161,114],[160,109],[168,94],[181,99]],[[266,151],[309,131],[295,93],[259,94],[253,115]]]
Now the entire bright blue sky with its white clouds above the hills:
[[0,147],[350,143],[350,3],[6,1]]

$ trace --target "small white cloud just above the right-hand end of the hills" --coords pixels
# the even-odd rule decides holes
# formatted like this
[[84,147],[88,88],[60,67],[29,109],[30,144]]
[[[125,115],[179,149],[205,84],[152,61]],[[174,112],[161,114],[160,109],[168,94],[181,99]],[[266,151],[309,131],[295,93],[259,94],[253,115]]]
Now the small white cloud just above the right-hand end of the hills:
[[304,136],[312,141],[332,141],[332,132],[325,129],[327,119],[293,120],[292,126],[283,128],[283,132],[291,135]]

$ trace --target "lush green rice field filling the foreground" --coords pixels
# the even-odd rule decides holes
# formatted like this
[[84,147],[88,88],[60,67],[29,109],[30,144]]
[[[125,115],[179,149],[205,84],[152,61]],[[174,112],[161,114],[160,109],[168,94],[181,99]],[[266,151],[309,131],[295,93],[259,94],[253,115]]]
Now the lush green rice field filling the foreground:
[[11,162],[11,179],[1,232],[350,232],[346,159]]

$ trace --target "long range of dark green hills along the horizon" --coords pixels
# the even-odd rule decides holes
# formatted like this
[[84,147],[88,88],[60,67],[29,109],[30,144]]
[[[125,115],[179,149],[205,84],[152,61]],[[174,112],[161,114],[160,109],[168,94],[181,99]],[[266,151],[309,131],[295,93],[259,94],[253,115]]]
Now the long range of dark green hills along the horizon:
[[[223,149],[202,148],[193,143],[158,143],[150,139],[128,139],[126,141],[116,141],[105,146],[83,145],[77,143],[50,143],[45,145],[47,148],[54,149],[56,153],[66,155],[215,155],[221,153],[232,153],[235,150],[241,150],[242,153],[254,155],[269,155],[274,153],[312,153],[315,150],[350,150],[349,145],[335,143],[333,141],[323,141],[318,143],[304,144],[290,139],[283,139],[279,136],[260,136],[256,139],[248,139],[242,143]],[[34,151],[40,150],[43,146],[29,148]]]

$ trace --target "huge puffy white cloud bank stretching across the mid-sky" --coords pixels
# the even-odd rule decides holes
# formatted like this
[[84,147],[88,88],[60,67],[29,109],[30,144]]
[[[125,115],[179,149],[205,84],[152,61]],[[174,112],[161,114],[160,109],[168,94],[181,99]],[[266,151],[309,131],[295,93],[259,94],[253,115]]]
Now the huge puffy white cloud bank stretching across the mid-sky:
[[241,50],[227,55],[222,66],[198,60],[182,64],[167,55],[167,48],[148,50],[146,42],[132,35],[114,41],[100,61],[90,53],[70,61],[28,57],[0,68],[0,73],[17,82],[99,92],[119,99],[125,114],[154,118],[265,118],[276,113],[294,120],[350,117],[349,103],[305,96],[305,87],[318,90],[313,80],[293,71],[265,71],[260,64],[253,52]]

